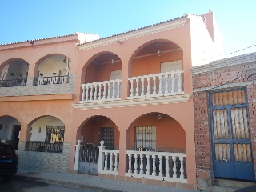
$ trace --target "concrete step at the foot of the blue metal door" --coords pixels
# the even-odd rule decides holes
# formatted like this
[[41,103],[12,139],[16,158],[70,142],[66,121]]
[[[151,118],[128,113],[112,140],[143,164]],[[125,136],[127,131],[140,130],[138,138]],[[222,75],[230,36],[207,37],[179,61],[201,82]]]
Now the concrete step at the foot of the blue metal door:
[[218,186],[228,186],[228,187],[235,187],[238,189],[247,187],[247,186],[256,186],[255,182],[247,182],[241,180],[230,180],[230,179],[216,179]]

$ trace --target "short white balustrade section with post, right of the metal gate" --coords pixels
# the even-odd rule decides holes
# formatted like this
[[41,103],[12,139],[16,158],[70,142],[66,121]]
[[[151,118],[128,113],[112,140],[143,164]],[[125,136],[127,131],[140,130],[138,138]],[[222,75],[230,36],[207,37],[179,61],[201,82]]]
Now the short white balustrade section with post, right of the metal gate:
[[98,149],[98,173],[118,174],[119,150],[106,150],[103,141]]

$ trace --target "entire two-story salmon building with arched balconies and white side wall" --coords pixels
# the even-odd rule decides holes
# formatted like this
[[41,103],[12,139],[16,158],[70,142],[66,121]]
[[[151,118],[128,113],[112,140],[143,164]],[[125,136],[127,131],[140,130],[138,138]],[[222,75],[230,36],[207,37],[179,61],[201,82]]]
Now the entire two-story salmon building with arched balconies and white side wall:
[[220,50],[212,12],[2,45],[0,137],[22,169],[194,189],[190,69]]

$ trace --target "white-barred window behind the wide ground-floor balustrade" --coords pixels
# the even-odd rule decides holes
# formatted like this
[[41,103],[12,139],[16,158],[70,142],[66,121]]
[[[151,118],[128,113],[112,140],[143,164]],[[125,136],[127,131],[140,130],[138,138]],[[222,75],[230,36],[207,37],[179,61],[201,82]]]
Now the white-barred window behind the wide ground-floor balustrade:
[[156,150],[155,126],[135,126],[135,150]]

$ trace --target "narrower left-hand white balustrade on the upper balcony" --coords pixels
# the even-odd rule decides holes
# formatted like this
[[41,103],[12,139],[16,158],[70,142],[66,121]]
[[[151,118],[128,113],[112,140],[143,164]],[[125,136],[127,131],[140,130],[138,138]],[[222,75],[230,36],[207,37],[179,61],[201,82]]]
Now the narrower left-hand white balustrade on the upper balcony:
[[120,100],[121,82],[120,79],[116,79],[82,84],[82,100],[80,103]]

